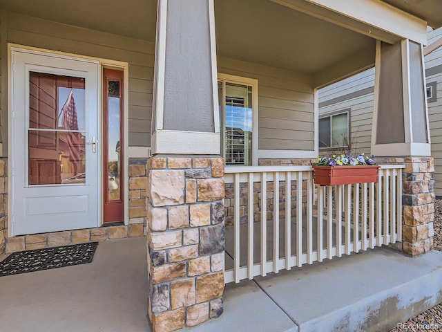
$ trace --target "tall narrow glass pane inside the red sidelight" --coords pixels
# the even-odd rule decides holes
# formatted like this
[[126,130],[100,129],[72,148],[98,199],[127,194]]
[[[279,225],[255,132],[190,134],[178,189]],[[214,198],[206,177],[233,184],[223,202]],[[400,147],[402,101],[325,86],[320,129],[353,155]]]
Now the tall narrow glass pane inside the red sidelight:
[[108,201],[119,201],[120,179],[120,84],[108,81]]

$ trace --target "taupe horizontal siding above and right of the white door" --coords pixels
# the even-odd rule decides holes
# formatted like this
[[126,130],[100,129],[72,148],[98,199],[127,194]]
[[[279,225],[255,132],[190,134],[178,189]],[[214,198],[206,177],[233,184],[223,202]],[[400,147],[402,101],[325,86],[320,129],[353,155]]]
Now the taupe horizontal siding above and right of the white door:
[[8,42],[128,62],[128,144],[129,146],[151,145],[155,53],[153,43],[10,12]]

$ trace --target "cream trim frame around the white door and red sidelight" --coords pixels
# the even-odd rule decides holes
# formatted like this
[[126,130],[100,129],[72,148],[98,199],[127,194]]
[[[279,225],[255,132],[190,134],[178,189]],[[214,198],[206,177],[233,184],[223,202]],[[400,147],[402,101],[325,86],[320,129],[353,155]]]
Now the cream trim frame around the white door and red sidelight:
[[[129,64],[128,62],[121,62],[117,60],[112,59],[104,59],[99,57],[89,57],[87,55],[77,55],[72,53],[66,53],[66,52],[60,52],[56,50],[47,50],[44,48],[37,48],[32,46],[23,46],[19,44],[13,44],[8,43],[8,170],[11,172],[12,170],[12,50],[21,50],[26,53],[31,54],[43,54],[43,55],[50,55],[50,56],[58,56],[66,59],[87,59],[87,60],[93,60],[99,62],[99,93],[97,95],[98,98],[98,117],[99,119],[102,118],[102,97],[103,97],[103,85],[102,85],[102,79],[103,79],[103,68],[111,68],[111,69],[117,69],[119,71],[123,71],[124,75],[124,86],[123,86],[123,98],[124,98],[124,104],[123,104],[123,124],[122,124],[122,130],[123,130],[123,137],[124,137],[124,150],[126,151],[126,155],[123,156],[122,160],[122,166],[123,166],[123,172],[124,174],[128,174],[128,71],[129,71]],[[102,121],[99,121],[98,126],[98,137],[97,137],[97,143],[102,147],[103,143],[103,127],[102,127]],[[103,147],[102,147],[103,148]],[[102,165],[102,154],[99,155],[99,167]],[[103,181],[101,181],[101,169],[99,170],[99,178],[97,178],[97,181],[99,181],[99,192],[103,192]],[[123,192],[123,200],[124,200],[124,225],[128,225],[128,176],[124,176],[124,192]],[[8,192],[12,193],[12,176],[8,174]],[[98,200],[98,209],[99,209],[99,222],[97,223],[97,227],[100,227],[104,225],[103,222],[103,196],[102,194],[99,194],[99,200]],[[12,195],[10,195],[10,199],[8,200],[8,214],[12,214]],[[14,237],[12,235],[12,218],[8,218],[8,237]]]

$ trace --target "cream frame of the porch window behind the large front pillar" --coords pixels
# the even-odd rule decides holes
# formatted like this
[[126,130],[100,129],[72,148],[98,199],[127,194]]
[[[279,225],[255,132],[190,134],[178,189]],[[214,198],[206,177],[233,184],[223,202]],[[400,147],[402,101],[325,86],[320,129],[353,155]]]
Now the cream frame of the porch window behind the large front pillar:
[[[220,113],[220,136],[221,136],[221,156],[225,158],[225,135],[226,135],[226,126],[224,123],[224,116],[225,116],[225,84],[226,83],[232,83],[232,84],[242,84],[251,86],[252,89],[252,142],[251,142],[251,164],[250,165],[227,165],[226,167],[244,167],[244,166],[258,166],[258,80],[249,78],[249,77],[242,77],[242,76],[236,76],[236,75],[230,75],[230,74],[224,74],[224,73],[218,73],[218,82],[222,82],[222,95],[218,97],[219,100],[222,101],[222,107]],[[221,121],[222,120],[222,121]]]

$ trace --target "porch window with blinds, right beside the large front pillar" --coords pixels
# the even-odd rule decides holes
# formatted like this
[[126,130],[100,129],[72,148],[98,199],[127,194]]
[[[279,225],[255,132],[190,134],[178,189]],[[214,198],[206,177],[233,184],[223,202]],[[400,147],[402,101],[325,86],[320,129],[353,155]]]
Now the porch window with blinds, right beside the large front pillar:
[[218,81],[221,151],[226,165],[253,164],[254,90],[256,87],[253,83]]

